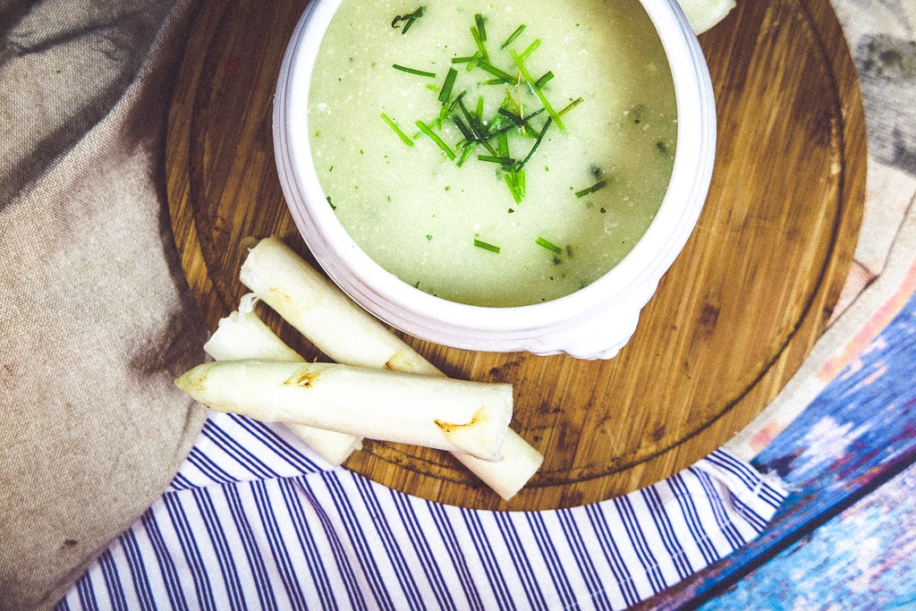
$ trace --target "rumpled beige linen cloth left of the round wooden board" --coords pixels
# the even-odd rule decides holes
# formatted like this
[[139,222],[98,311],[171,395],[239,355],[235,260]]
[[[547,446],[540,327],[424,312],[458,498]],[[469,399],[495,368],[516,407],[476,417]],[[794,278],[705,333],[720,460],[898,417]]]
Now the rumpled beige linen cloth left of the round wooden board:
[[0,0],[0,609],[56,604],[203,409],[163,184],[185,0]]

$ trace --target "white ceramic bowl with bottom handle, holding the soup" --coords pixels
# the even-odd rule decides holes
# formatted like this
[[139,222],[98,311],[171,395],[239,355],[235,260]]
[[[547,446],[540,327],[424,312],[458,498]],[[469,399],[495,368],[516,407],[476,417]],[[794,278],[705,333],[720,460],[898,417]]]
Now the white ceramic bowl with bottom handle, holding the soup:
[[437,344],[486,352],[611,358],[690,236],[713,172],[715,108],[703,53],[675,0],[641,0],[671,65],[678,112],[668,191],[649,230],[605,276],[536,305],[486,308],[415,289],[357,246],[327,205],[309,146],[311,71],[341,0],[312,0],[289,41],[274,100],[279,180],[302,237],[324,271],[379,319]]

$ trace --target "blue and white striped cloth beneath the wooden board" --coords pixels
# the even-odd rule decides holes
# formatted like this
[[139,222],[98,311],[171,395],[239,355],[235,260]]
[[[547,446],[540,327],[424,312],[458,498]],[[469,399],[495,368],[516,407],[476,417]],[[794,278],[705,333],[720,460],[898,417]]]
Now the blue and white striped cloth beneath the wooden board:
[[450,507],[213,414],[169,490],[58,609],[622,609],[764,529],[785,492],[718,451],[595,505]]

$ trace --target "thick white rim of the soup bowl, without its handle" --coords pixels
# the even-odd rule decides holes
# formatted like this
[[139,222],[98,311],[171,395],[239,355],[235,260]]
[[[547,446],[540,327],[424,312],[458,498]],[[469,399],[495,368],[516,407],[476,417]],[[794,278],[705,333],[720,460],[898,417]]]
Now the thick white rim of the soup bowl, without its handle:
[[[715,140],[712,83],[696,37],[675,0],[639,0],[669,62],[677,107],[674,164],[658,213],[630,252],[592,284],[554,300],[509,307],[471,305],[414,288],[365,254],[325,204],[311,157],[308,113],[292,112],[292,108],[308,108],[318,49],[342,2],[314,0],[301,16],[280,70],[274,134],[278,169],[292,185],[292,192],[286,193],[289,211],[319,263],[345,292],[386,319],[385,313],[390,313],[400,322],[426,319],[456,330],[524,335],[542,328],[572,327],[588,312],[624,298],[639,285],[658,283],[681,252],[703,207]],[[694,115],[696,120],[682,120]],[[691,200],[693,205],[684,205]],[[398,320],[387,322],[404,326]]]

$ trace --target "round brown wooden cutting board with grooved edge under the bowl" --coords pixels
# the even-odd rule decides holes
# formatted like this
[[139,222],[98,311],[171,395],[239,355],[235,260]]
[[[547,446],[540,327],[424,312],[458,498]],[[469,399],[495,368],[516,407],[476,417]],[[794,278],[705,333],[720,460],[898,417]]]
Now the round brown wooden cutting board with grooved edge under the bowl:
[[[169,116],[169,208],[211,329],[245,293],[245,238],[277,234],[309,257],[271,141],[280,60],[305,3],[205,0],[189,38]],[[573,507],[676,473],[775,397],[823,333],[856,246],[856,71],[828,0],[745,0],[701,42],[718,106],[712,191],[620,355],[479,354],[406,338],[449,376],[514,385],[512,426],[544,453],[540,473],[506,503],[445,453],[366,442],[345,466],[463,507]],[[325,358],[261,313],[303,355]]]

